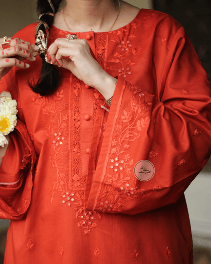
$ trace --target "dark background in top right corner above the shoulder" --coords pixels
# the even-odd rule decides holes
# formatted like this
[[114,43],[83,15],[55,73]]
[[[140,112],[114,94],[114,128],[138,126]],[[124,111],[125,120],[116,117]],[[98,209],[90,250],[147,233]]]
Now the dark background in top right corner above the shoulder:
[[153,9],[181,23],[211,81],[211,0],[153,0]]

